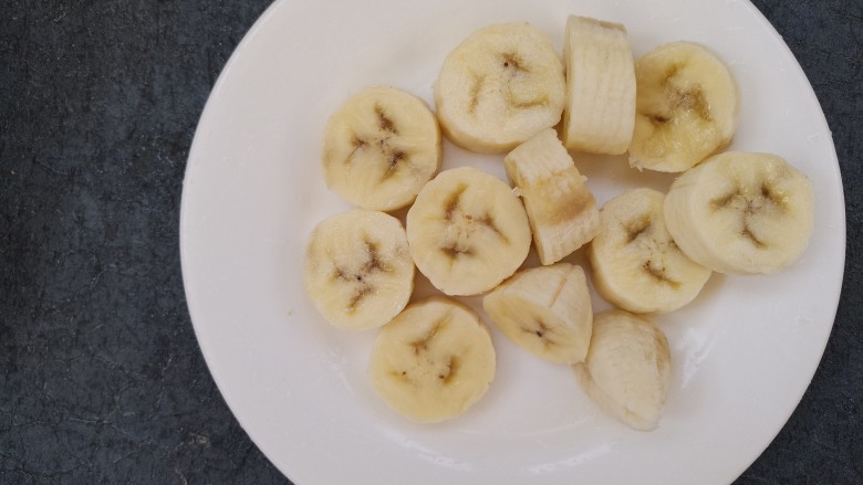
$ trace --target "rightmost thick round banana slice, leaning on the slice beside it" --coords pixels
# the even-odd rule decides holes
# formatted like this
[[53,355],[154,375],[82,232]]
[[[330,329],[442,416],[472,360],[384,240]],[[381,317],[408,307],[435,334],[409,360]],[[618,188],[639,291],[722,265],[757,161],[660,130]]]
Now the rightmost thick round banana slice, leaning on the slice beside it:
[[812,183],[776,155],[729,151],[675,180],[664,212],[677,245],[704,266],[774,273],[794,263],[812,235]]

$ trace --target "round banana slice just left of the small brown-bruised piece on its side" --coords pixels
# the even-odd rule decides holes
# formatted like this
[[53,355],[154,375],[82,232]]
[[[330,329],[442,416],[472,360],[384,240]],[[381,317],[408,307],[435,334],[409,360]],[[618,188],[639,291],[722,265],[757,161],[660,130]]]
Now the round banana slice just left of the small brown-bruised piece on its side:
[[530,250],[521,201],[500,179],[470,167],[426,183],[407,212],[419,271],[447,295],[477,295],[518,270]]

